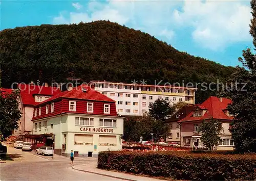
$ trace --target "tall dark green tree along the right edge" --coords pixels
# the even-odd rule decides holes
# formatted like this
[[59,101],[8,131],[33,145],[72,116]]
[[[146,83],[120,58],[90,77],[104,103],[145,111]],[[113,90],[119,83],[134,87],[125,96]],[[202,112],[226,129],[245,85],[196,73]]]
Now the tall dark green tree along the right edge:
[[[250,34],[256,47],[256,1],[251,1],[252,19]],[[255,49],[255,48],[254,48]],[[229,97],[232,104],[228,111],[234,116],[232,121],[232,138],[239,152],[256,152],[256,60],[248,48],[239,58],[246,68],[236,67],[225,92],[221,96]]]

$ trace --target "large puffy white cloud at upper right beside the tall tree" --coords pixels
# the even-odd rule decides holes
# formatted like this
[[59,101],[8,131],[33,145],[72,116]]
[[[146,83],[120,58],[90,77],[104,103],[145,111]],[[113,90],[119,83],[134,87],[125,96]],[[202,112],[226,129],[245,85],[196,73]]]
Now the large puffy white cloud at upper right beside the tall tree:
[[250,41],[250,7],[239,2],[185,1],[183,12],[174,12],[176,22],[192,27],[196,43],[212,50]]

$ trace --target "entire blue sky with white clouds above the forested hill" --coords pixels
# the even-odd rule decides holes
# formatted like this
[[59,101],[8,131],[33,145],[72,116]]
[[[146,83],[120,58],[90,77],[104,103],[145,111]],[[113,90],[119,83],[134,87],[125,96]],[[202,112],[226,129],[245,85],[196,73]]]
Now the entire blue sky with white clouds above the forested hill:
[[223,65],[241,65],[253,47],[249,1],[2,0],[0,30],[40,24],[110,20]]

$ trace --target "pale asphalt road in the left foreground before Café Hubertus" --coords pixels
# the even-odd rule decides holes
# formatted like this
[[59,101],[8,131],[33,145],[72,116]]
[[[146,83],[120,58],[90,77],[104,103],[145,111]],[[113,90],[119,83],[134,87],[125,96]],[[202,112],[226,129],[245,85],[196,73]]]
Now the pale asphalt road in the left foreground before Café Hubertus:
[[[112,177],[76,171],[70,160],[63,157],[36,156],[8,148],[12,161],[0,163],[0,180],[120,180]],[[89,164],[97,160],[75,159],[74,165]]]

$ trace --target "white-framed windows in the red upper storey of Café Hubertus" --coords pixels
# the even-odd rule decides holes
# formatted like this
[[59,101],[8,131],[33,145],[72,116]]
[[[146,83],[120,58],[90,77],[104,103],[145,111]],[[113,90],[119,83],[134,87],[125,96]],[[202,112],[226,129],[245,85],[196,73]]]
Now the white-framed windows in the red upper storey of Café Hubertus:
[[[69,111],[76,111],[76,101],[69,101]],[[51,104],[51,113],[54,112],[54,102]],[[93,113],[93,102],[87,102],[87,112]],[[49,105],[46,105],[46,114],[49,113]],[[110,105],[104,104],[104,114],[110,114]],[[39,107],[38,115],[41,115],[41,107]],[[37,108],[35,108],[35,117],[37,116]]]

